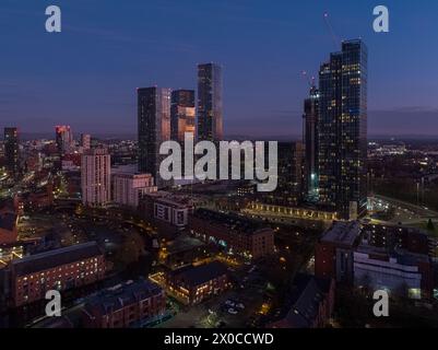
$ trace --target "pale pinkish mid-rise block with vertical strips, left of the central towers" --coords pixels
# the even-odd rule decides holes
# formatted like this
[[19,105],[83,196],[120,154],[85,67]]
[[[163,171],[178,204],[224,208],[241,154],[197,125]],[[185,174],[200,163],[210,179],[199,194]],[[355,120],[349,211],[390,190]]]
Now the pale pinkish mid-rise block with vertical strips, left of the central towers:
[[90,149],[81,156],[82,203],[105,207],[110,202],[110,155],[106,149]]

